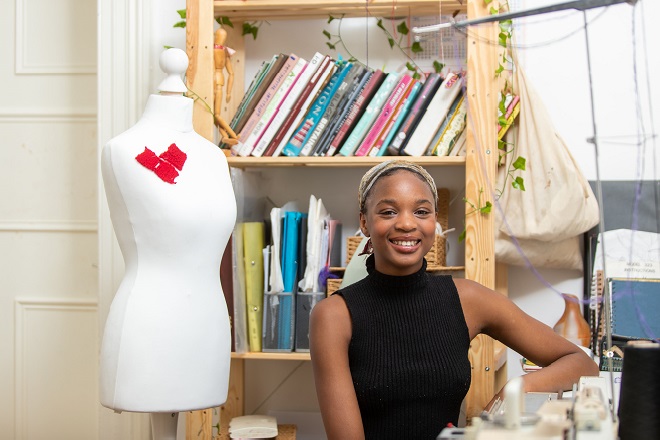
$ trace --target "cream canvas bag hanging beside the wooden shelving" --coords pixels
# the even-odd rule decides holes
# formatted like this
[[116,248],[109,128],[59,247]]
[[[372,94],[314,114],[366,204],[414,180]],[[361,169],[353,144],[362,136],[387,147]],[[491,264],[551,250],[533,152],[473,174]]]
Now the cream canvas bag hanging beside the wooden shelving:
[[[520,114],[504,138],[516,146],[515,157],[507,155],[498,170],[503,192],[501,210],[494,209],[495,257],[519,266],[581,269],[579,236],[598,223],[596,197],[519,63],[513,75]],[[524,178],[525,191],[513,188],[510,177],[505,182],[518,156],[526,170],[514,174]]]

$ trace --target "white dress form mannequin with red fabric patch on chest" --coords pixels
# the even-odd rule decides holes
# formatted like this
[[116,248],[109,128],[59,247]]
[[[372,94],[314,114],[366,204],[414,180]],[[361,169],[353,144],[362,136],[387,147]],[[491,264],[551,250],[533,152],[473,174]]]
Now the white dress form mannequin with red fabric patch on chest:
[[125,275],[101,345],[100,400],[152,413],[175,439],[177,413],[227,399],[231,331],[220,260],[236,222],[225,155],[193,131],[179,49],[142,118],[104,147],[101,169]]

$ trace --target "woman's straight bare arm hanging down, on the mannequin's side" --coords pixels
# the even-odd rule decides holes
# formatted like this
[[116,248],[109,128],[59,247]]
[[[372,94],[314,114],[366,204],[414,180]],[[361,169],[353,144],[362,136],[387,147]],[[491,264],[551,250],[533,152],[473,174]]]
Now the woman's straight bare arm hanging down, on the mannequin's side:
[[312,309],[309,342],[316,394],[329,440],[364,439],[360,408],[348,364],[351,317],[334,295]]

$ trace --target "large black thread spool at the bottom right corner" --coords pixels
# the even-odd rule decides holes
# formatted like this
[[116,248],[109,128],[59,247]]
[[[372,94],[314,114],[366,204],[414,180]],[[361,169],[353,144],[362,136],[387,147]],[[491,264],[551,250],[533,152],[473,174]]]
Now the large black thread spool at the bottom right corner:
[[629,342],[623,351],[619,400],[621,440],[660,439],[660,344]]

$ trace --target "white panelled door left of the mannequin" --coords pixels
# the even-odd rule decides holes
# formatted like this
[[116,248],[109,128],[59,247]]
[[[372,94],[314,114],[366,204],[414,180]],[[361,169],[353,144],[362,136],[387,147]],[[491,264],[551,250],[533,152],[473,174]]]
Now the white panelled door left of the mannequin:
[[0,438],[96,439],[96,2],[0,15]]

